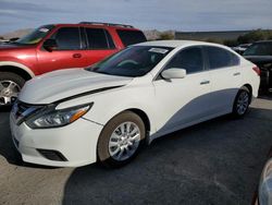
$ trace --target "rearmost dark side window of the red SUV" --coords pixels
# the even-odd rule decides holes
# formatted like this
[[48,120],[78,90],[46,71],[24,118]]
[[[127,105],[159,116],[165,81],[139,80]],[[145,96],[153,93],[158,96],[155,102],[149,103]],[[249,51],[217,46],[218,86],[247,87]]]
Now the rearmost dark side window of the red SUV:
[[143,34],[143,32],[139,32],[139,31],[118,29],[116,32],[125,47],[129,45],[143,43],[143,41],[147,41],[146,36]]

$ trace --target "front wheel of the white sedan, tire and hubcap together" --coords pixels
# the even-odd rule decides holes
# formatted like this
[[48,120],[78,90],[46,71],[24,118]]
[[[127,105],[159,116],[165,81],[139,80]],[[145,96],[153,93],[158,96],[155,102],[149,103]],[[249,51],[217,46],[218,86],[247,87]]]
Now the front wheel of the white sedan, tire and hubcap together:
[[132,111],[121,112],[106,124],[99,136],[98,160],[106,167],[122,167],[137,156],[145,137],[140,117]]

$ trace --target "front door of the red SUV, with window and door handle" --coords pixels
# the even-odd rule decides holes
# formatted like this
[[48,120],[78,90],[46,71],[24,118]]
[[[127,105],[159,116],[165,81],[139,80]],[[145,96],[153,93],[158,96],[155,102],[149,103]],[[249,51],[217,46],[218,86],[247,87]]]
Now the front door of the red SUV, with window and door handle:
[[60,27],[51,39],[55,39],[58,48],[47,51],[42,47],[37,51],[40,73],[60,69],[86,67],[87,59],[82,47],[82,37],[78,26]]

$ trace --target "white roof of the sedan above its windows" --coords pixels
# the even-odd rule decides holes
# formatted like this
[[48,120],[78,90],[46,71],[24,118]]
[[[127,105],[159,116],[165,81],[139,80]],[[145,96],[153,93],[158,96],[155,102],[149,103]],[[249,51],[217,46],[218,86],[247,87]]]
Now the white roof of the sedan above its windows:
[[184,46],[218,46],[222,48],[226,48],[225,46],[213,44],[213,43],[205,43],[197,40],[153,40],[137,44],[136,46],[161,46],[161,47],[184,47]]

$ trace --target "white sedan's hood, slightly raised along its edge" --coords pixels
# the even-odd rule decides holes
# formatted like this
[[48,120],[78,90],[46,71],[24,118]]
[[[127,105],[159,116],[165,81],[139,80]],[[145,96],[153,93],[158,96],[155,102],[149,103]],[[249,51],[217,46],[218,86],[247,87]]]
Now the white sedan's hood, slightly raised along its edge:
[[132,77],[107,75],[86,71],[84,69],[69,69],[47,73],[28,81],[18,95],[18,100],[45,105],[63,100],[73,96],[87,95],[104,89],[126,85]]

